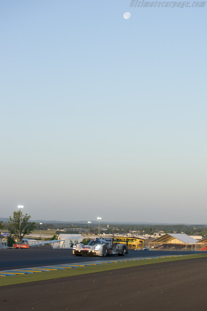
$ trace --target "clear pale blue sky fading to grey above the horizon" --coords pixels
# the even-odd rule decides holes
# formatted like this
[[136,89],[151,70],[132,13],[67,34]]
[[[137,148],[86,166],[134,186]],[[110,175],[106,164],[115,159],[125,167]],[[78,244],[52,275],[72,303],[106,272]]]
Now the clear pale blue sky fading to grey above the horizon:
[[1,217],[207,223],[207,4],[130,3],[1,2]]

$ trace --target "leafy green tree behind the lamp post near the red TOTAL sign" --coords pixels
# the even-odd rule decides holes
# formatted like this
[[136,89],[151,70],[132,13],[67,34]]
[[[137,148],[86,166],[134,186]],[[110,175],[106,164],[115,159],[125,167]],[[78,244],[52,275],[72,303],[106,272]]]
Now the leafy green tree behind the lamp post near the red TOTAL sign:
[[23,239],[25,235],[30,234],[36,228],[35,222],[30,222],[30,215],[14,211],[13,218],[9,217],[8,231],[15,236],[16,239]]

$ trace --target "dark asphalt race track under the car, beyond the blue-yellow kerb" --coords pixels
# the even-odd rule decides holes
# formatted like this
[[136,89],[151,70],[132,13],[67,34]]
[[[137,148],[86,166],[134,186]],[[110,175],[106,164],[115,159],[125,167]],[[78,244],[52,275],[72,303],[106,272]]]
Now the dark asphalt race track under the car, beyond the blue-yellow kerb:
[[[129,250],[127,257],[140,256],[164,256],[176,254],[193,254],[196,252],[176,252],[176,251],[136,251]],[[0,250],[0,271],[13,270],[30,267],[52,266],[72,262],[86,262],[96,260],[108,260],[118,256],[95,257],[95,256],[75,256],[72,249],[2,249]]]

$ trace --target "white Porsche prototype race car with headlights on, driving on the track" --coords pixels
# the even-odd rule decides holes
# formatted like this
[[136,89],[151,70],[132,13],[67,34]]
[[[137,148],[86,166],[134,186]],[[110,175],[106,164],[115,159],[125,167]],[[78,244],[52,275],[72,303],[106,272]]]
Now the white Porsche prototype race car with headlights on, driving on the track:
[[84,245],[77,243],[73,245],[73,254],[76,256],[82,255],[94,255],[94,256],[106,256],[106,255],[118,255],[124,256],[128,254],[127,244],[116,244],[113,238],[97,238]]

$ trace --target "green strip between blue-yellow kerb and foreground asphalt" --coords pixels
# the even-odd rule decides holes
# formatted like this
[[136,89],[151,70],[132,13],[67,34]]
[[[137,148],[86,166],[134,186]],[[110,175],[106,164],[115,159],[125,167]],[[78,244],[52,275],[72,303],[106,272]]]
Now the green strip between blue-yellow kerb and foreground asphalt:
[[29,282],[36,282],[36,281],[44,281],[44,280],[52,280],[52,279],[57,279],[57,278],[67,277],[67,276],[77,276],[77,275],[88,274],[88,273],[149,265],[153,263],[172,262],[172,261],[177,261],[177,260],[203,258],[203,257],[207,258],[207,255],[201,254],[201,255],[191,255],[191,256],[182,256],[182,257],[145,259],[145,260],[136,260],[136,261],[127,261],[127,262],[113,262],[113,263],[105,263],[102,265],[92,265],[92,266],[85,266],[85,267],[78,267],[78,268],[68,268],[64,270],[37,272],[34,274],[1,276],[0,286],[22,284],[22,283],[29,283]]

